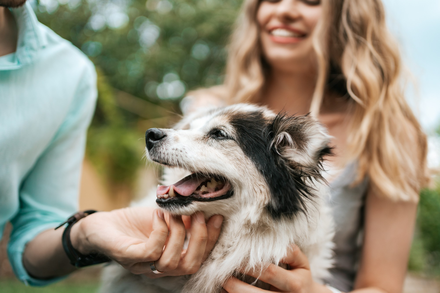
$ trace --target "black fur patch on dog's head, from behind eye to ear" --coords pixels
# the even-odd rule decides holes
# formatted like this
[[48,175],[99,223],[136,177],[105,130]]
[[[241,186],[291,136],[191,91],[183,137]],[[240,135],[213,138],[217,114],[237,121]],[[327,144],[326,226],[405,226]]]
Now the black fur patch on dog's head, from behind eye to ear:
[[[292,217],[306,212],[305,200],[315,196],[312,177],[324,181],[321,176],[323,157],[331,153],[326,143],[311,158],[314,163],[304,166],[289,157],[292,152],[307,153],[310,137],[307,126],[317,123],[308,116],[279,114],[265,119],[263,112],[233,113],[230,123],[235,128],[236,140],[264,177],[271,192],[268,212],[274,218]],[[295,147],[295,149],[292,149]]]

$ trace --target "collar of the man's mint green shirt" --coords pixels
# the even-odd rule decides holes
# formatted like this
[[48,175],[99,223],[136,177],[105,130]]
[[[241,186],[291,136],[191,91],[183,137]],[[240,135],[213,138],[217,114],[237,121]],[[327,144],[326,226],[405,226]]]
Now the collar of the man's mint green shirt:
[[29,1],[22,7],[11,8],[11,12],[18,27],[17,50],[0,57],[0,70],[18,69],[32,63],[37,58],[38,51],[47,44]]

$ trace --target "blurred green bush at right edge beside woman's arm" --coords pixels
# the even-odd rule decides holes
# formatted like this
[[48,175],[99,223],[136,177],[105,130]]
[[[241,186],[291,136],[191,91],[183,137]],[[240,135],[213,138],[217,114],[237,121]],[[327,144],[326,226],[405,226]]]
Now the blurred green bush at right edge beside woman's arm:
[[409,269],[440,275],[440,181],[436,188],[425,189],[420,194]]

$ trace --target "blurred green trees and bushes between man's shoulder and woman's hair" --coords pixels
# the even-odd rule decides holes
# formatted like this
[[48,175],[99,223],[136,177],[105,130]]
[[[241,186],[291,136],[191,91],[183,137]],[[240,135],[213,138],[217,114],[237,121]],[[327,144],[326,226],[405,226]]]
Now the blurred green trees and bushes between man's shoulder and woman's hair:
[[98,69],[87,156],[109,183],[131,184],[136,178],[143,164],[142,127],[157,126],[154,119],[161,117],[159,126],[169,126],[170,112],[179,112],[187,90],[222,82],[224,46],[241,2],[33,2],[40,22],[80,48]]

